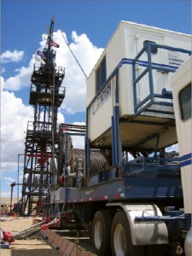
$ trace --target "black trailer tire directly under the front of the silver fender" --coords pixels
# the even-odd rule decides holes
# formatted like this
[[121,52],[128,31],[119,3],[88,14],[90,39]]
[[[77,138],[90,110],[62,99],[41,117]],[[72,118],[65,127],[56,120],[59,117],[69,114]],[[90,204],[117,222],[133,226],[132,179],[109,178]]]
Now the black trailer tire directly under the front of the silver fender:
[[134,246],[131,240],[131,230],[125,212],[115,214],[112,224],[112,253],[113,256],[143,256],[144,246]]

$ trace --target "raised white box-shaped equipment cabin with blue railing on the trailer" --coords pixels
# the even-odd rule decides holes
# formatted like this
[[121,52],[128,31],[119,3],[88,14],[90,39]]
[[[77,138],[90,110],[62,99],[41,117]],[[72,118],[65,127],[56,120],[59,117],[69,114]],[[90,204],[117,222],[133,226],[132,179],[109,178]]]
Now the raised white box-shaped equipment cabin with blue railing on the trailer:
[[[147,48],[137,56],[148,43],[152,54],[148,54]],[[191,49],[190,35],[127,21],[119,23],[87,80],[91,147],[112,146],[111,117],[115,106],[119,106],[123,148],[153,151],[177,143],[174,125],[165,129],[165,124],[167,120],[174,123],[172,99],[167,97],[172,73],[189,56],[179,49]],[[153,77],[149,75],[150,68]]]

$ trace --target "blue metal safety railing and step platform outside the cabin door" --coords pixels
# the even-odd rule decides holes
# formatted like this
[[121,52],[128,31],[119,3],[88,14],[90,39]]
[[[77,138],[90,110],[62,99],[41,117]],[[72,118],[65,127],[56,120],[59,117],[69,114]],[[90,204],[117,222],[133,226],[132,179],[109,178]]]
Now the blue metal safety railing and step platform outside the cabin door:
[[[154,63],[152,61],[152,49],[165,49],[172,52],[183,53],[191,55],[191,51],[187,49],[174,48],[166,45],[155,44],[153,42],[147,42],[143,49],[137,54],[136,58],[132,61],[132,76],[133,76],[133,93],[134,93],[134,111],[135,115],[146,114],[151,116],[162,116],[167,118],[174,118],[172,108],[172,92],[167,91],[165,88],[161,91],[161,94],[154,92],[154,77],[153,71],[157,70],[160,73],[174,73],[177,70],[175,63],[169,63],[170,65]],[[141,61],[140,58],[147,52],[147,61]],[[178,62],[178,61],[177,61]],[[180,61],[182,63],[182,61]],[[137,67],[145,67],[139,75],[137,75]],[[148,95],[141,101],[137,101],[137,87],[139,82],[142,81],[144,76],[148,75]],[[158,105],[158,106],[157,106]]]

